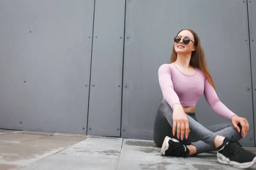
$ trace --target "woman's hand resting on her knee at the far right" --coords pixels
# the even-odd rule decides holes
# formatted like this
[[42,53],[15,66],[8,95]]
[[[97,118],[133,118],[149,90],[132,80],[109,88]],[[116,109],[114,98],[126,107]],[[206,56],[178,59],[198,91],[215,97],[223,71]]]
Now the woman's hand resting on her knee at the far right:
[[245,135],[247,135],[247,132],[249,130],[249,123],[248,123],[248,121],[245,118],[239,117],[239,116],[232,116],[231,121],[232,121],[233,126],[236,128],[236,130],[238,132],[240,132],[240,128],[238,126],[239,123],[240,123],[240,125],[242,127],[241,135],[243,137],[245,137]]

